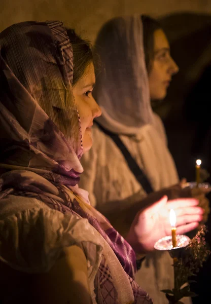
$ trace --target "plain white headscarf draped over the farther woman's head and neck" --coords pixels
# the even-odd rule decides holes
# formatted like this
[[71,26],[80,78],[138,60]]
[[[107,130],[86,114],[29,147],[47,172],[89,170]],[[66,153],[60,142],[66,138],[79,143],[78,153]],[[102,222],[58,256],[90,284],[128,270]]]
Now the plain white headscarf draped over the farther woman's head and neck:
[[105,23],[95,43],[101,70],[94,97],[102,109],[97,121],[119,134],[135,134],[153,123],[140,16]]

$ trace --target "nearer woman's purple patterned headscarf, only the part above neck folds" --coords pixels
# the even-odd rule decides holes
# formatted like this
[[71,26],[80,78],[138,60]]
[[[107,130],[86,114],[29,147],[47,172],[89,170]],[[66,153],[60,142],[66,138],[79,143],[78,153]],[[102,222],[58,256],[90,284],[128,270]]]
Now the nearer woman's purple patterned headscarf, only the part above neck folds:
[[62,22],[4,30],[0,73],[0,164],[75,185],[83,172],[82,135],[72,93],[73,50]]

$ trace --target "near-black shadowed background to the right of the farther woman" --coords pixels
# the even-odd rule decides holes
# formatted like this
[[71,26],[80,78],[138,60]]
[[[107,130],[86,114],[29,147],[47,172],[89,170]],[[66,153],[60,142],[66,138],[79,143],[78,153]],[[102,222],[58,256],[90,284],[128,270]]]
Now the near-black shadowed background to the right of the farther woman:
[[[195,161],[211,173],[211,15],[176,13],[160,18],[168,36],[172,58],[180,71],[168,94],[155,110],[162,117],[171,154],[180,178],[195,180]],[[211,183],[211,178],[207,179]],[[207,196],[211,201],[211,195]],[[206,240],[211,246],[211,216]],[[211,257],[204,263],[191,289],[193,303],[211,302]]]

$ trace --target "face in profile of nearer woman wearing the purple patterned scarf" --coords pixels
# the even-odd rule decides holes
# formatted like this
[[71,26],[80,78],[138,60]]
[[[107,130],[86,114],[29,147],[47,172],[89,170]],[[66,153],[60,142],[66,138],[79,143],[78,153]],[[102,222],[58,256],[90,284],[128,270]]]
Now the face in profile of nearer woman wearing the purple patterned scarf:
[[101,115],[100,107],[92,96],[94,85],[94,65],[90,63],[84,72],[84,76],[73,87],[73,94],[81,119],[84,153],[92,146],[91,127],[93,119]]

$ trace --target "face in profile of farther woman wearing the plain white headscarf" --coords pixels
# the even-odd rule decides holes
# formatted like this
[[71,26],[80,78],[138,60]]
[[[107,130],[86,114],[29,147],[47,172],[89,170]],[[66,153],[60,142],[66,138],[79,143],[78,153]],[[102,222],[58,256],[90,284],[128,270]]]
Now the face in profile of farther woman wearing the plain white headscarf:
[[149,74],[150,97],[160,100],[166,96],[173,74],[179,70],[170,56],[170,47],[162,29],[154,32],[154,60]]

